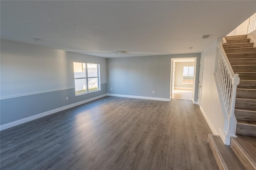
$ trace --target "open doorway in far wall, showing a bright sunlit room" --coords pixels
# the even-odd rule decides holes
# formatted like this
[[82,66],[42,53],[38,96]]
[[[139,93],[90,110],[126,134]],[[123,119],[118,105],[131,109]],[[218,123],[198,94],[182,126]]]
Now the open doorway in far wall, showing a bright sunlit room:
[[171,99],[193,100],[196,58],[172,59]]

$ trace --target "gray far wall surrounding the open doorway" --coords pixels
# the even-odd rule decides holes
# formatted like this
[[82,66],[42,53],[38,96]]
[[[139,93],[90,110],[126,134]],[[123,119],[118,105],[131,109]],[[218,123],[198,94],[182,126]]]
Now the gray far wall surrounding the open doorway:
[[107,93],[170,99],[171,59],[183,57],[197,58],[194,97],[197,101],[200,53],[108,58]]

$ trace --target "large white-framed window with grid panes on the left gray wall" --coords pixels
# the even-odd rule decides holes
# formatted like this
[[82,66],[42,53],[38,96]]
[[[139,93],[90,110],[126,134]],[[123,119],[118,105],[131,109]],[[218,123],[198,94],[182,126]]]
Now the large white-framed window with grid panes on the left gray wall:
[[74,62],[76,95],[99,90],[99,64]]

